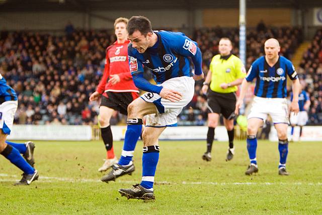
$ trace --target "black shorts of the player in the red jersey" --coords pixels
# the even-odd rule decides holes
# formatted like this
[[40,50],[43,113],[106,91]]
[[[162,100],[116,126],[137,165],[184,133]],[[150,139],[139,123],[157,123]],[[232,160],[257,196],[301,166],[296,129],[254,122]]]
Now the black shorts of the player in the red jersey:
[[127,115],[127,106],[137,97],[139,97],[139,94],[136,92],[106,92],[102,96],[100,106],[106,106]]

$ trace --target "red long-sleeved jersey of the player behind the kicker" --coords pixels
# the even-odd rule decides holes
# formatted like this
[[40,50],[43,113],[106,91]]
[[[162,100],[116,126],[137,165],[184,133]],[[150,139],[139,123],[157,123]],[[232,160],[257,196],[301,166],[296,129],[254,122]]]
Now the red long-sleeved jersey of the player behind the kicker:
[[[97,86],[96,91],[100,94],[104,92],[139,92],[135,87],[132,76],[129,70],[127,45],[129,40],[124,43],[117,41],[106,49],[105,68],[102,80]],[[115,85],[108,83],[111,75],[117,74],[120,77],[120,82]]]

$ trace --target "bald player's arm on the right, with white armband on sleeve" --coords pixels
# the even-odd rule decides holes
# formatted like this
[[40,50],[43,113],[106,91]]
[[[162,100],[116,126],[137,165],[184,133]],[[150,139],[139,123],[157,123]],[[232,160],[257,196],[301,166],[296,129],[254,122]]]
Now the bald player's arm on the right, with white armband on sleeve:
[[290,105],[290,111],[297,114],[299,112],[298,94],[300,93],[300,81],[295,71],[295,67],[291,62],[287,64],[287,70],[288,70],[288,77],[292,80],[292,93],[293,93],[293,100]]

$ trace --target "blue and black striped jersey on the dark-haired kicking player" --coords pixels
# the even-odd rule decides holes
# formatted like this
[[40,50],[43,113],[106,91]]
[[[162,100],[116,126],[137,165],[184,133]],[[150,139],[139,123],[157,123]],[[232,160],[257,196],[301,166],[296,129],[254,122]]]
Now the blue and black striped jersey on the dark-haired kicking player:
[[181,32],[154,33],[157,35],[157,42],[142,54],[129,44],[129,66],[132,76],[143,73],[144,65],[151,69],[157,84],[176,77],[191,77],[189,57],[195,66],[195,74],[202,74],[201,51],[196,42]]

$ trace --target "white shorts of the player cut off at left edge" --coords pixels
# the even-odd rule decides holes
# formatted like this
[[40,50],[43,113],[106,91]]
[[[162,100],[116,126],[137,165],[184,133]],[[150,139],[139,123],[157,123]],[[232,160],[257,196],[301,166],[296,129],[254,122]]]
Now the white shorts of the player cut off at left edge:
[[0,128],[5,134],[10,134],[18,101],[7,101],[0,105]]

